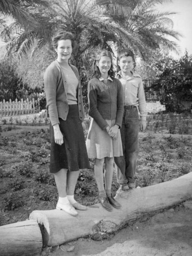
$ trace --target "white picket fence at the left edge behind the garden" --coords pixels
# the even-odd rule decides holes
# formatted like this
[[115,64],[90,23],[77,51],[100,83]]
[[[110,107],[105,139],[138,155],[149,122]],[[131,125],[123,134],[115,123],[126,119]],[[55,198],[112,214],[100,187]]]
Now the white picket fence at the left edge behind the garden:
[[9,101],[3,100],[0,102],[0,116],[15,116],[23,114],[39,113],[39,99]]

